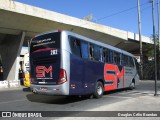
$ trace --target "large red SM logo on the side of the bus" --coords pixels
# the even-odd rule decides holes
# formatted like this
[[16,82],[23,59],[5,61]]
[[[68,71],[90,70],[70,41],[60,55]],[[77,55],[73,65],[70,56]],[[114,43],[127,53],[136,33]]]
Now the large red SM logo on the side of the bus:
[[[105,64],[104,66],[104,79],[106,85],[104,90],[114,90],[118,87],[124,88],[124,67],[118,67],[113,64]],[[120,84],[121,83],[121,84]],[[119,86],[119,84],[121,86]]]

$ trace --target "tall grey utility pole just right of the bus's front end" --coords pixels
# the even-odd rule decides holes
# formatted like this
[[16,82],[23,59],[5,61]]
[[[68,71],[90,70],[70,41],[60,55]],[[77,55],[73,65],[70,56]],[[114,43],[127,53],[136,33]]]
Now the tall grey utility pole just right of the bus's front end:
[[140,0],[138,4],[138,29],[139,29],[139,48],[140,48],[140,78],[143,79],[143,53],[142,53],[142,37],[141,37],[141,14],[140,14]]

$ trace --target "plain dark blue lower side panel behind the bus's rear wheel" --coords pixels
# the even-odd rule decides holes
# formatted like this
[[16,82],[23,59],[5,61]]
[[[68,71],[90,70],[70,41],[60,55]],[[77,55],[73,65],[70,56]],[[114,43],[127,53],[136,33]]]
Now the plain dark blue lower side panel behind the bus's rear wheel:
[[91,94],[98,80],[103,80],[104,63],[82,60],[71,55],[70,95]]

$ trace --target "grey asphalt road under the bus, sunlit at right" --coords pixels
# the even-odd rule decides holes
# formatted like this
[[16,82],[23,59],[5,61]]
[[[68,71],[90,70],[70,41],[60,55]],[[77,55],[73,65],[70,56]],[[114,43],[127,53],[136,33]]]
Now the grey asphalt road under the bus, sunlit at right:
[[[157,88],[159,94],[160,82]],[[106,92],[101,99],[38,95],[27,88],[6,89],[0,91],[0,111],[160,111],[159,96],[154,96],[154,81],[141,81],[134,90]]]

